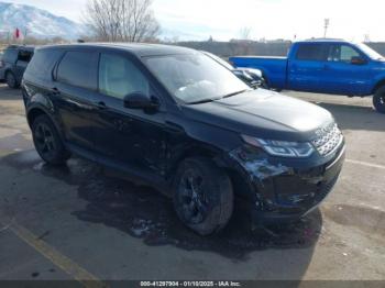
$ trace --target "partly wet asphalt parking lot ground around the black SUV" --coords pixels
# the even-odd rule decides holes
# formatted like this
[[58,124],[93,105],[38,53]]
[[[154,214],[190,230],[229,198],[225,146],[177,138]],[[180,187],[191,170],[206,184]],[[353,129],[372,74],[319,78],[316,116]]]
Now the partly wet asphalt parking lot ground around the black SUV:
[[253,230],[235,209],[221,233],[202,237],[180,224],[170,199],[118,171],[77,157],[45,165],[18,90],[0,87],[0,279],[82,270],[102,280],[385,279],[385,115],[342,99],[318,101],[348,141],[341,178],[320,209]]

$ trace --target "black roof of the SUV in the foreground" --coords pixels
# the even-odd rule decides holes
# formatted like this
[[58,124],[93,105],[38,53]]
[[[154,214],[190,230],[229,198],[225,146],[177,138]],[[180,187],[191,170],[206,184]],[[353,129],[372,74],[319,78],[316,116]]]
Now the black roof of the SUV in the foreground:
[[174,54],[191,54],[196,53],[195,49],[175,46],[175,45],[161,45],[161,44],[146,44],[146,43],[80,43],[69,45],[51,45],[43,46],[45,48],[96,48],[103,47],[110,49],[128,51],[135,54],[139,57],[145,56],[162,56],[162,55],[174,55]]

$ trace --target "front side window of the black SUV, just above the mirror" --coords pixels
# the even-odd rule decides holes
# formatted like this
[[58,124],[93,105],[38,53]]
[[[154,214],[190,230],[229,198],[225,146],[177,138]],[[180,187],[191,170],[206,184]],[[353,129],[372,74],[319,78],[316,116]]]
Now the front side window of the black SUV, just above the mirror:
[[148,81],[135,65],[120,55],[101,54],[99,64],[99,91],[123,99],[132,92],[148,95]]

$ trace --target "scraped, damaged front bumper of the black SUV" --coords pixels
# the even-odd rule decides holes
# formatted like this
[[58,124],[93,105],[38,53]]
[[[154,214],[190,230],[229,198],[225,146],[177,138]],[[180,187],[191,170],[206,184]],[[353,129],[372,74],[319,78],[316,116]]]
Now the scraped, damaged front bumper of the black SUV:
[[246,182],[241,199],[254,221],[276,222],[299,219],[321,203],[338,180],[345,146],[342,142],[332,155],[307,160],[283,162],[267,155],[251,160],[244,153],[241,148],[231,155]]

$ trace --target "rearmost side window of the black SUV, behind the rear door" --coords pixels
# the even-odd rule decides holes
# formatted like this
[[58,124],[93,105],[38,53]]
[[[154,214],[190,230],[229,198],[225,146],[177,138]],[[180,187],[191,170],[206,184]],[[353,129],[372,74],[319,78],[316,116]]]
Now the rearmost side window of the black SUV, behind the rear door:
[[31,63],[26,67],[25,75],[33,77],[51,79],[52,70],[63,55],[62,51],[57,49],[37,49],[35,51]]

